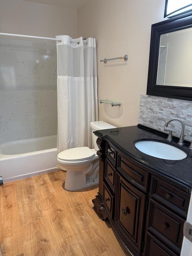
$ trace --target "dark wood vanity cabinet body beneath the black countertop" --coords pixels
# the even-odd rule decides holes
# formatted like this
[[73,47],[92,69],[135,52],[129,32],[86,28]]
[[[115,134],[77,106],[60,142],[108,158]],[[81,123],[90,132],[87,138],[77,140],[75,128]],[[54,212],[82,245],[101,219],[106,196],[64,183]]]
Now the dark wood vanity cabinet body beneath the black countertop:
[[95,212],[109,219],[128,255],[179,256],[190,199],[186,186],[158,175],[113,143],[101,138],[97,143]]

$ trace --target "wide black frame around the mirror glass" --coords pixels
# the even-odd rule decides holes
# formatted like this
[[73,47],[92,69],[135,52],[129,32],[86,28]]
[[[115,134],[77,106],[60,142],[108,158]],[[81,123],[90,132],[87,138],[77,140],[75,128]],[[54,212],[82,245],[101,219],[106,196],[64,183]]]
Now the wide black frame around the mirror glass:
[[[157,85],[158,56],[160,36],[166,33],[188,29],[192,27],[192,16],[180,16],[152,25],[149,53],[149,71],[147,95],[178,98],[192,101],[192,85],[190,87]],[[192,67],[191,67],[192,72]]]

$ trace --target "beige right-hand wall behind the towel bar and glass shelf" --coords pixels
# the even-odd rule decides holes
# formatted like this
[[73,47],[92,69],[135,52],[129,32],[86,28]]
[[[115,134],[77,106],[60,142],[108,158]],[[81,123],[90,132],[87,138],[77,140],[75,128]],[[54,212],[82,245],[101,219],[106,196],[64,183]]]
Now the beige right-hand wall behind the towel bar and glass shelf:
[[[137,125],[140,95],[146,94],[151,25],[165,20],[165,0],[89,0],[77,12],[78,36],[97,37],[99,120]],[[100,62],[128,54],[128,61]]]

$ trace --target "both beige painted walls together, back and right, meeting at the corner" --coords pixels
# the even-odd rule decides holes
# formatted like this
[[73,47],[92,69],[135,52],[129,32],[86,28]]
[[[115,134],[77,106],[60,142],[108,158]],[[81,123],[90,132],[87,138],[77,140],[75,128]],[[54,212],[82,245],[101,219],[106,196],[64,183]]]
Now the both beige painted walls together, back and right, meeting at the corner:
[[[0,0],[0,32],[55,37],[97,37],[99,119],[137,125],[146,94],[151,25],[163,21],[165,0],[89,0],[76,10],[22,0]],[[78,23],[77,23],[78,20]],[[100,59],[128,54],[128,61]]]

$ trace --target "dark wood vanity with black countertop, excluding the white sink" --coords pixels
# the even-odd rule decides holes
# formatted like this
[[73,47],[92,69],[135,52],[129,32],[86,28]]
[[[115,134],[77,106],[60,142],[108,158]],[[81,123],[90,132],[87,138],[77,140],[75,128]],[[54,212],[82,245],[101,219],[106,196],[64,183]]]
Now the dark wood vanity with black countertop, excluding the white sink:
[[180,255],[191,188],[191,152],[164,160],[140,152],[135,143],[168,143],[167,134],[142,125],[95,131],[100,160],[99,192],[92,200],[102,220],[132,255]]

